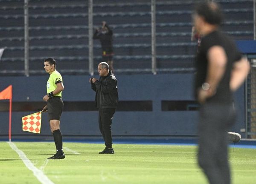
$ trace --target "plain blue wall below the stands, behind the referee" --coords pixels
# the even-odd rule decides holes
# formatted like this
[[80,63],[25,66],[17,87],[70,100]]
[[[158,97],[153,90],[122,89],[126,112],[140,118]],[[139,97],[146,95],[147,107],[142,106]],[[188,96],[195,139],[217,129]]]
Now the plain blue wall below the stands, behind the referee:
[[[49,75],[0,77],[0,91],[13,85],[13,101],[42,101]],[[197,111],[162,111],[163,100],[194,100],[193,74],[116,75],[120,101],[153,102],[153,111],[117,111],[113,118],[113,135],[196,135]],[[93,101],[89,75],[64,75],[64,101]],[[98,78],[98,76],[96,76]],[[235,95],[239,109],[237,124],[230,131],[244,128],[244,88]],[[40,107],[41,108],[41,107]],[[21,130],[21,117],[32,112],[12,113],[12,133],[31,135]],[[8,112],[0,112],[0,135],[8,134]],[[47,115],[42,118],[42,135],[50,135]],[[61,131],[64,135],[100,135],[96,111],[63,112]]]

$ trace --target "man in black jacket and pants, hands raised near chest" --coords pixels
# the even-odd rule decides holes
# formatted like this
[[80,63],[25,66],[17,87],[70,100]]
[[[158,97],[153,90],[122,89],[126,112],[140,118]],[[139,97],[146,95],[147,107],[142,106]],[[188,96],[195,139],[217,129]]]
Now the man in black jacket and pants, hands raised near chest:
[[117,80],[108,63],[98,65],[99,80],[90,78],[91,88],[96,92],[95,102],[99,109],[99,130],[102,133],[106,148],[99,154],[113,154],[111,124],[118,103]]

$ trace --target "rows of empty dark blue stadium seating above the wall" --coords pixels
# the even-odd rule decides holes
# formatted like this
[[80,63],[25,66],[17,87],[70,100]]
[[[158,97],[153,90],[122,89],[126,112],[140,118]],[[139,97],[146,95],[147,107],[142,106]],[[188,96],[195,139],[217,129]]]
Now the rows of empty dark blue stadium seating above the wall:
[[[217,1],[217,0],[216,0]],[[236,40],[253,39],[253,0],[218,0],[224,9],[222,29]],[[0,74],[24,68],[23,0],[0,0]],[[157,0],[157,68],[189,71],[196,42],[191,42],[194,0]],[[43,59],[54,57],[63,72],[88,70],[88,6],[84,0],[29,0],[29,68],[44,72]],[[151,4],[149,0],[94,0],[94,28],[105,20],[114,32],[114,66],[151,68]],[[95,69],[101,61],[94,40]]]

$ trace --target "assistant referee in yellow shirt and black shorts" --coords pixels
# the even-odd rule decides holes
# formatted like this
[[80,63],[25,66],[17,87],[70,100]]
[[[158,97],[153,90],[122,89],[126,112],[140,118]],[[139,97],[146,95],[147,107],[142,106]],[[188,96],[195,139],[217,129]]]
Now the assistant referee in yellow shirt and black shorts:
[[43,100],[47,102],[47,106],[43,108],[42,112],[48,111],[49,124],[56,146],[56,153],[48,159],[63,159],[65,155],[62,150],[60,118],[64,106],[61,99],[61,92],[64,90],[64,86],[61,74],[55,68],[56,61],[54,58],[44,60],[44,70],[49,73],[50,77],[47,81],[47,95],[43,97]]

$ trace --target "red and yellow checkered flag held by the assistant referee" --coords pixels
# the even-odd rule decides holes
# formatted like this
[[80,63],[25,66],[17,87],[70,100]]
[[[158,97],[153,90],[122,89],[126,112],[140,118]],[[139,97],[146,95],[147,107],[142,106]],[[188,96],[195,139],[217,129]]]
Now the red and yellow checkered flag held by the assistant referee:
[[41,119],[42,119],[41,111],[22,117],[22,130],[32,132],[32,133],[40,133]]

